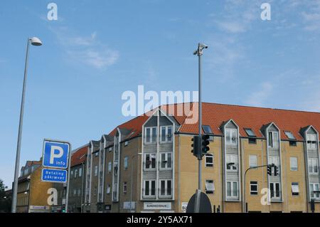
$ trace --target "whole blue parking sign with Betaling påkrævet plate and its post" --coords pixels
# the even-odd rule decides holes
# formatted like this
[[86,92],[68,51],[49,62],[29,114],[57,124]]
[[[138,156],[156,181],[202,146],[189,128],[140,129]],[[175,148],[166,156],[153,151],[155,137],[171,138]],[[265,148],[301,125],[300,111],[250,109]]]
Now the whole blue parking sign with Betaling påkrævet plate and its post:
[[[65,212],[68,213],[69,182],[71,168],[70,142],[56,139],[43,140],[43,157],[41,181],[67,184]],[[67,171],[68,169],[68,171]]]

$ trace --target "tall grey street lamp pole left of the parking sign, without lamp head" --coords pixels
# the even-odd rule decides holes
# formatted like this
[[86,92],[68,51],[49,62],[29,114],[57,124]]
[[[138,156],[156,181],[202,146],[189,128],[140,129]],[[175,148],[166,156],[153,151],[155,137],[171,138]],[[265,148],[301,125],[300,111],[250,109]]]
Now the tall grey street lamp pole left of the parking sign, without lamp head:
[[22,136],[22,126],[23,126],[23,109],[24,109],[24,97],[26,93],[26,79],[28,71],[28,52],[29,52],[30,38],[28,38],[27,48],[26,48],[26,63],[24,66],[24,77],[23,77],[23,88],[22,88],[22,99],[20,108],[20,122],[18,129],[18,142],[16,145],[16,167],[14,169],[14,189],[12,194],[12,207],[11,212],[16,213],[16,198],[18,194],[18,174],[20,165],[20,151],[21,151],[21,136]]

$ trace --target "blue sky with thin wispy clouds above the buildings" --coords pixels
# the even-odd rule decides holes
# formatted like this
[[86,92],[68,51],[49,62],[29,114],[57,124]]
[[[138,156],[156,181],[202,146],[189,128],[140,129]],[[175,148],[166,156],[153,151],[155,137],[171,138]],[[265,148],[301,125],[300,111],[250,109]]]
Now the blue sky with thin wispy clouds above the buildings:
[[[80,147],[129,120],[126,90],[197,90],[203,100],[320,111],[320,1],[52,1],[0,4],[0,179],[11,186],[27,37],[31,47],[21,164],[43,138]],[[272,19],[260,6],[270,3]]]

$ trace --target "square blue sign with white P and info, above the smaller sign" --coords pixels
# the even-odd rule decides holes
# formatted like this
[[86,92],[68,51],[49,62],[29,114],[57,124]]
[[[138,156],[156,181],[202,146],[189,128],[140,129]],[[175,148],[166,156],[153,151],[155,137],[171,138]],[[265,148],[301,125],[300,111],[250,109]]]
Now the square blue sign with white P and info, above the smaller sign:
[[70,144],[68,142],[45,140],[43,144],[43,167],[67,169],[69,152]]

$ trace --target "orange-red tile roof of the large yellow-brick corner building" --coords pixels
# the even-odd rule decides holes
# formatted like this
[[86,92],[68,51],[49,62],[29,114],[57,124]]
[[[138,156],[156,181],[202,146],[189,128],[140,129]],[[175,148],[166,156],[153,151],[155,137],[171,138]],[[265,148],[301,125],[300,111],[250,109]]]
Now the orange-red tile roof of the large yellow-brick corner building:
[[[191,104],[191,110],[193,107],[198,107],[198,102],[193,102]],[[186,116],[189,112],[184,112],[183,115],[178,115],[178,107],[183,104],[176,105],[163,105],[161,110],[173,115],[176,121],[181,125],[179,132],[183,133],[198,133],[198,122],[197,124],[186,124]],[[173,107],[173,108],[170,108]],[[126,128],[128,130],[134,131],[134,134],[130,137],[137,136],[142,132],[142,125],[146,120],[148,120],[147,115],[141,115],[135,117],[122,125],[119,128]],[[240,135],[242,137],[247,137],[245,128],[250,128],[255,132],[257,137],[263,137],[260,129],[262,125],[267,125],[268,123],[274,122],[277,127],[281,130],[282,139],[288,139],[284,134],[284,131],[290,131],[294,134],[298,140],[302,140],[302,136],[299,134],[299,130],[302,127],[313,125],[315,129],[320,131],[320,112],[304,112],[297,110],[278,110],[271,108],[262,107],[247,107],[240,105],[224,105],[217,103],[203,102],[203,125],[210,125],[213,134],[222,135],[220,131],[220,126],[223,122],[228,120],[234,120],[234,122],[239,126]],[[114,135],[117,128],[110,132],[110,135]]]

